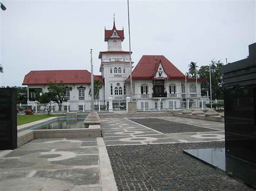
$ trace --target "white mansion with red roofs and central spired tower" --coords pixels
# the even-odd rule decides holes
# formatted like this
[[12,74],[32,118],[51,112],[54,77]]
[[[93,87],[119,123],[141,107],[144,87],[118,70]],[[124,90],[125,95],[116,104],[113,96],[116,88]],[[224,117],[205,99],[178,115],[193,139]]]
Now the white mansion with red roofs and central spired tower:
[[[99,103],[107,105],[109,98],[113,103],[124,103],[130,97],[130,59],[129,52],[122,50],[124,29],[117,30],[113,23],[112,30],[105,30],[107,51],[99,52],[100,72],[94,79],[104,83],[99,92]],[[133,63],[133,62],[132,62]],[[176,109],[200,106],[207,96],[201,96],[200,82],[206,79],[185,77],[163,55],[143,55],[132,72],[132,99],[137,102],[138,110]],[[48,83],[63,81],[72,90],[65,96],[70,110],[90,110],[89,95],[90,72],[87,70],[39,70],[25,75],[23,85],[28,86],[28,104],[34,105],[35,90],[49,91]],[[97,102],[96,102],[97,103]],[[98,103],[97,103],[98,104]],[[66,108],[66,107],[65,107]]]

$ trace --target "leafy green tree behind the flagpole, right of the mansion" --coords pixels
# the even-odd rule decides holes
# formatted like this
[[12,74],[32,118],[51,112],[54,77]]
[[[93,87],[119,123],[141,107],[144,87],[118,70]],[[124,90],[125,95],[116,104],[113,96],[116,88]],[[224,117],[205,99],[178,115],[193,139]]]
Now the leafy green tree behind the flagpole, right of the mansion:
[[[212,100],[223,100],[223,74],[220,73],[220,67],[223,63],[220,60],[211,61],[211,81],[212,81]],[[206,95],[206,91],[209,91],[210,95],[210,67],[201,66],[198,70],[198,75],[200,78],[206,78],[207,82],[201,83],[201,93]]]

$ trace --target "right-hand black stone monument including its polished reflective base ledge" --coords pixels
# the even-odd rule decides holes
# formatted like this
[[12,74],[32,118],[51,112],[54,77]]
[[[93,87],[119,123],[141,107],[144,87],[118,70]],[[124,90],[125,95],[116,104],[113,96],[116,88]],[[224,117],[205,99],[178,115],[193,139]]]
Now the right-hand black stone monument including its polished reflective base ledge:
[[256,43],[249,56],[221,67],[224,74],[225,148],[184,150],[256,189]]

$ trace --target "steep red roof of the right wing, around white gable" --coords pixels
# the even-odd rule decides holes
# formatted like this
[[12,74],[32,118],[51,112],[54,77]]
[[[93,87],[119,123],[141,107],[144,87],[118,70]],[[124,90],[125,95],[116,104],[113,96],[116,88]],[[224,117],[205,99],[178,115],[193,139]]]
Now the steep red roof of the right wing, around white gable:
[[[168,79],[185,80],[185,75],[163,55],[143,55],[137,66],[132,71],[132,80],[151,80],[157,72],[159,64],[162,64]],[[166,78],[167,79],[167,78]],[[204,79],[198,79],[198,81]],[[126,81],[130,81],[130,76]],[[187,81],[196,81],[193,77],[187,77]]]

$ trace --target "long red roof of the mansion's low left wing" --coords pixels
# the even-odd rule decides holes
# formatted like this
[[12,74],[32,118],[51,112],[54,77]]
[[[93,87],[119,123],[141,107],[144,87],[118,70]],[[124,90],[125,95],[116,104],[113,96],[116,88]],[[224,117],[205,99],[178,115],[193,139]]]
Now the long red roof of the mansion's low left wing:
[[[94,80],[103,82],[102,77],[97,75],[94,76]],[[87,70],[32,70],[25,75],[22,84],[48,84],[60,81],[65,84],[91,83],[91,73]]]

